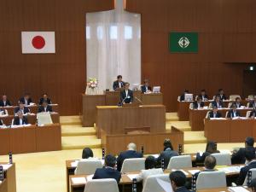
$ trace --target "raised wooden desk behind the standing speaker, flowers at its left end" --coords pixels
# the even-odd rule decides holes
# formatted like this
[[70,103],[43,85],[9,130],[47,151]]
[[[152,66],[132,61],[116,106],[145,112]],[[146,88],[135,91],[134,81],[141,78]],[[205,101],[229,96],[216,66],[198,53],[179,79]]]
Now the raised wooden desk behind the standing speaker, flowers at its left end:
[[[134,92],[135,96],[145,105],[162,105],[163,95],[142,94],[140,91]],[[93,126],[96,123],[96,106],[117,106],[120,102],[119,91],[105,91],[103,95],[82,95],[83,97],[83,126]],[[136,99],[134,99],[136,101]]]

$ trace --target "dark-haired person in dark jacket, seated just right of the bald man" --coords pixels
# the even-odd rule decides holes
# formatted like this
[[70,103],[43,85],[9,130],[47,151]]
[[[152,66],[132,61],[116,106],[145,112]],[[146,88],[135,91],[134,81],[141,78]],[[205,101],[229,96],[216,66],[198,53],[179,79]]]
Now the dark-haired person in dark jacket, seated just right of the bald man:
[[157,158],[157,164],[161,165],[162,160],[164,160],[164,169],[166,169],[171,158],[175,156],[178,156],[178,153],[173,149],[171,140],[165,139],[164,151],[162,151]]

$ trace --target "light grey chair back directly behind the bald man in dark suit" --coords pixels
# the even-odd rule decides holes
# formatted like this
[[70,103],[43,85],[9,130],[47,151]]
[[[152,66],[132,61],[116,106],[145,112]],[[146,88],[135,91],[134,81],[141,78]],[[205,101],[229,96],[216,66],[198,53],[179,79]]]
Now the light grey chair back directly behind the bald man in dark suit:
[[121,172],[140,172],[143,169],[145,169],[145,159],[132,158],[124,160]]

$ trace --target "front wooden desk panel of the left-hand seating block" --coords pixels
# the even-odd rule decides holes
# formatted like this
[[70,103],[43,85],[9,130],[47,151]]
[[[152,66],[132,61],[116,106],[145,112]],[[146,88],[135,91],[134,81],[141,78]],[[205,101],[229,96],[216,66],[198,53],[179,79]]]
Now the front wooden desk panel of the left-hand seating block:
[[0,129],[0,145],[0,154],[61,150],[61,125]]

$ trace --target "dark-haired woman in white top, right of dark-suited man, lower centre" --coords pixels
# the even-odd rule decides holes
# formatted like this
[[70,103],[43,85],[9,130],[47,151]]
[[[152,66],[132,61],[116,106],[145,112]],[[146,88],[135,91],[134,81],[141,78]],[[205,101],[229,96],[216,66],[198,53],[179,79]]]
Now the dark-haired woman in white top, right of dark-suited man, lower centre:
[[151,175],[157,175],[157,174],[164,174],[163,170],[161,168],[156,169],[156,160],[154,159],[154,156],[148,156],[145,160],[145,170],[142,170],[139,175],[136,177],[137,182],[140,182],[143,180],[143,184],[146,181],[146,179]]

